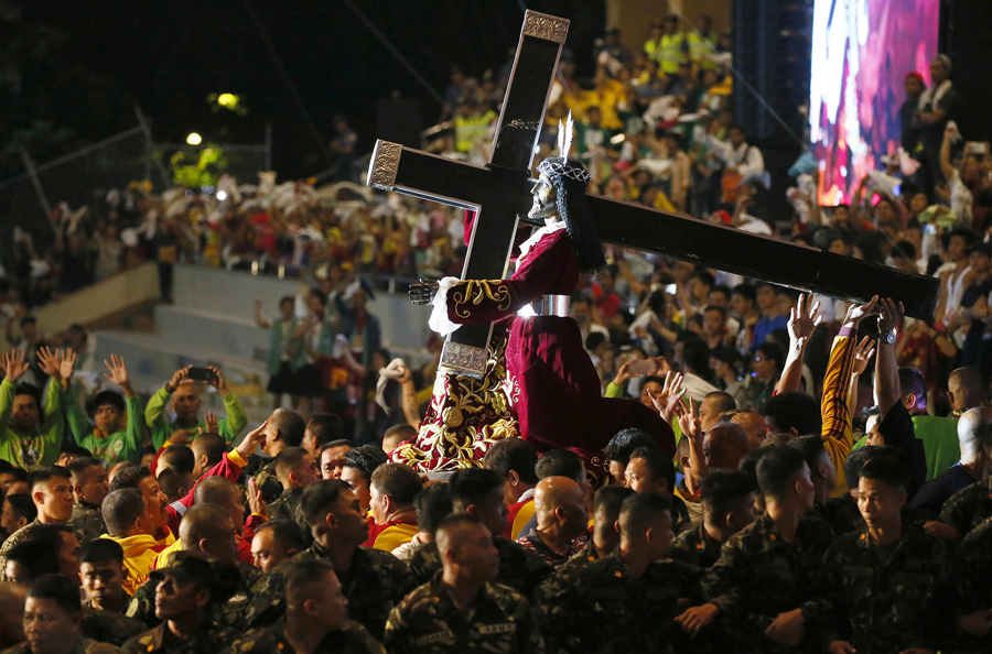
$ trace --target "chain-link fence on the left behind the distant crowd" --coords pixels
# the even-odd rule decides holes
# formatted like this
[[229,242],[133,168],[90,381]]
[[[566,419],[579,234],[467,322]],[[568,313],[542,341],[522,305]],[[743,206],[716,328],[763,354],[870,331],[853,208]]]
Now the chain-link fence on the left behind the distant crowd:
[[151,129],[138,110],[139,126],[94,143],[72,154],[42,164],[23,153],[24,173],[0,182],[0,261],[9,262],[17,243],[15,228],[31,235],[36,250],[54,240],[48,215],[58,203],[72,209],[93,205],[111,188],[148,179],[155,192],[176,181],[173,157],[182,154],[186,165],[201,161],[205,150],[222,153],[214,172],[227,173],[240,182],[257,183],[258,172],[269,167],[270,143],[262,145],[207,144],[200,146],[157,144]]

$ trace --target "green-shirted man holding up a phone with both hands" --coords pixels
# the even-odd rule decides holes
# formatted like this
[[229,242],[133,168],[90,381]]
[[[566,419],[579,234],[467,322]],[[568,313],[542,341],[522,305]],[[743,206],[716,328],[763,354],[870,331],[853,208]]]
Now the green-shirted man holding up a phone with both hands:
[[[206,425],[200,419],[200,408],[203,404],[203,401],[200,399],[200,389],[193,380],[188,379],[192,368],[192,366],[186,366],[176,370],[172,379],[148,401],[148,406],[144,408],[144,422],[151,429],[152,446],[155,449],[162,447],[162,444],[172,436],[173,432],[179,429],[187,429],[195,433],[198,427],[204,427],[204,433],[206,433]],[[207,369],[213,372],[211,381],[207,383],[220,393],[220,399],[224,401],[224,410],[227,413],[227,417],[217,424],[218,432],[225,443],[229,444],[238,437],[238,434],[248,424],[248,418],[245,416],[245,407],[241,406],[241,401],[227,388],[227,382],[224,381],[224,375],[220,374],[220,371],[213,366],[208,366]],[[164,416],[165,403],[170,397],[172,397],[172,410],[175,412],[174,423],[166,422]]]

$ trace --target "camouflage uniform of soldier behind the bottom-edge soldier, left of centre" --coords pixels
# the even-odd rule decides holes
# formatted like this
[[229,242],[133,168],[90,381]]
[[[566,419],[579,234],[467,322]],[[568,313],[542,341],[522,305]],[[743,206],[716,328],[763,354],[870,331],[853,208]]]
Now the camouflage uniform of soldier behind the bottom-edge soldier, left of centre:
[[[327,554],[314,543],[292,560],[326,560]],[[254,597],[245,615],[247,626],[272,624],[285,613],[285,578],[283,566],[260,578],[252,587]],[[348,615],[362,624],[373,637],[381,639],[389,610],[414,588],[407,564],[388,552],[357,547],[347,570],[336,570],[342,591],[348,599]]]

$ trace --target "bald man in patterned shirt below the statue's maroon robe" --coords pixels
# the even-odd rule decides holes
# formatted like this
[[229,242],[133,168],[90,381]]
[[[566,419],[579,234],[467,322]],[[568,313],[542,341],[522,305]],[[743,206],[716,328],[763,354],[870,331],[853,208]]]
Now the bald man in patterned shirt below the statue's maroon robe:
[[589,539],[585,492],[568,477],[547,477],[533,489],[535,533],[517,541],[556,567],[578,554]]

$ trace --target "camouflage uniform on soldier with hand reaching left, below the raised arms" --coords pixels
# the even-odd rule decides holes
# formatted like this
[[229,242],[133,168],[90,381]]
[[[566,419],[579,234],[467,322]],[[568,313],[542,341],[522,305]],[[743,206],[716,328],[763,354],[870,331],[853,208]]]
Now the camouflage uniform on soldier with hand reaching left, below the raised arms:
[[779,613],[802,608],[805,643],[818,642],[810,633],[813,607],[804,604],[812,597],[815,578],[832,542],[830,525],[811,512],[799,520],[794,543],[785,541],[767,515],[731,536],[703,579],[708,601],[720,609],[718,620],[707,629],[724,631],[753,651],[795,652],[766,639],[765,630]]

